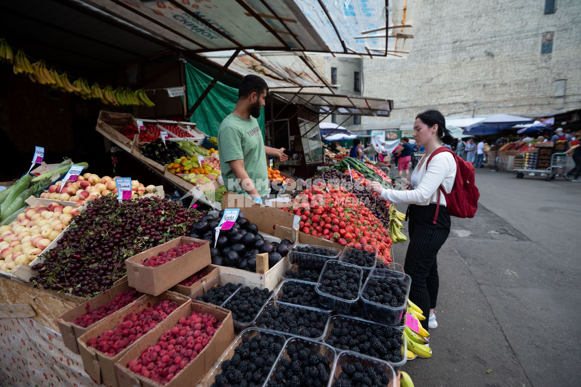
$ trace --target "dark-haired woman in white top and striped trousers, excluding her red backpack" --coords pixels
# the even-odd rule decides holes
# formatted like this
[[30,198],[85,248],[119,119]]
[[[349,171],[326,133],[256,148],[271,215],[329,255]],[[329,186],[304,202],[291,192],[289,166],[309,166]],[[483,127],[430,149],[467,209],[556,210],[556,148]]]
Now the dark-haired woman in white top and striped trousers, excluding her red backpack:
[[[440,195],[440,201],[436,204],[437,190],[442,186],[444,191],[451,192],[456,178],[456,160],[450,152],[438,153],[426,170],[426,160],[432,152],[440,148],[442,142],[453,141],[446,129],[444,116],[437,110],[418,114],[414,123],[414,138],[416,144],[425,147],[426,153],[411,175],[413,188],[410,187],[407,191],[383,189],[379,182],[368,183],[367,188],[379,193],[383,200],[410,205],[410,244],[404,271],[411,277],[410,300],[424,313],[429,310],[429,318],[421,321],[422,326],[428,329],[437,327],[434,310],[439,288],[437,252],[450,234],[450,215],[446,210],[446,199],[444,195]],[[434,224],[437,205],[440,207]]]

